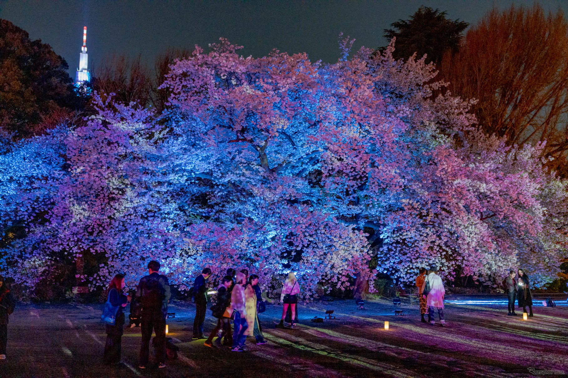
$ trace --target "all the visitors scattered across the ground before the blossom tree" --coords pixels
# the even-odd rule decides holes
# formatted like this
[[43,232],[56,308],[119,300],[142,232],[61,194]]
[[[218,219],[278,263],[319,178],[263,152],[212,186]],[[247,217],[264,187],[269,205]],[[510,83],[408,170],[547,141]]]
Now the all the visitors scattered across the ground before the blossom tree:
[[[266,339],[258,321],[258,314],[264,312],[266,303],[262,299],[262,290],[256,274],[249,276],[248,270],[236,272],[229,268],[216,290],[207,287],[211,269],[204,268],[195,280],[191,296],[195,301],[195,318],[193,324],[193,339],[205,339],[207,347],[230,347],[231,351],[245,350],[248,336],[254,337],[256,345],[264,345]],[[0,276],[0,360],[6,359],[7,324],[9,315],[14,311],[15,300],[10,289]],[[519,269],[509,271],[502,282],[508,297],[508,315],[516,316],[515,299],[519,308],[533,316],[532,295],[528,275]],[[168,278],[160,274],[160,263],[148,263],[148,275],[140,279],[134,295],[124,293],[124,275],[117,274],[108,285],[108,296],[103,309],[101,320],[106,324],[107,339],[103,352],[106,364],[120,363],[122,335],[125,322],[123,309],[130,303],[130,327],[141,327],[141,345],[139,367],[145,369],[149,361],[149,342],[152,331],[156,334],[153,345],[156,350],[158,368],[165,367],[166,361],[166,317],[168,303],[171,297]],[[419,298],[421,322],[435,325],[435,313],[438,313],[440,324],[444,320],[445,288],[438,269],[420,268],[416,277],[417,296]],[[203,334],[203,324],[206,317],[208,293],[215,293],[215,303],[211,306],[212,315],[217,318],[217,324],[206,337]],[[290,272],[282,286],[280,301],[283,304],[282,318],[275,327],[293,328],[298,323],[298,295],[300,285]],[[425,320],[428,314],[428,321]]]

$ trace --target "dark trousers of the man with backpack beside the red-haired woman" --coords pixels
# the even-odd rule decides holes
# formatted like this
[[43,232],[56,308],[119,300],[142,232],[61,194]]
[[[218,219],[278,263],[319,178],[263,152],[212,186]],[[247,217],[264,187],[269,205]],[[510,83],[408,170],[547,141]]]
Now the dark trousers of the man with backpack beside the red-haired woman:
[[166,314],[161,308],[142,309],[142,346],[140,347],[140,365],[148,363],[152,330],[156,332],[154,346],[158,363],[166,362]]

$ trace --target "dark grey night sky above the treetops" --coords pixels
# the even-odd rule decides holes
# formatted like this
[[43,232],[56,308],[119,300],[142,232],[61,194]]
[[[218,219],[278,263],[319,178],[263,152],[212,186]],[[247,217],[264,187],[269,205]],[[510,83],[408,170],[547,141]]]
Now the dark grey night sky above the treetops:
[[[113,53],[153,58],[168,47],[206,48],[219,37],[244,45],[245,56],[264,56],[273,48],[307,52],[312,61],[336,61],[340,32],[361,45],[386,44],[383,29],[413,14],[420,5],[446,10],[470,24],[493,5],[532,5],[532,0],[384,1],[23,1],[0,0],[0,18],[41,39],[65,58],[70,73],[79,62],[82,28],[87,26],[89,65]],[[567,0],[541,0],[545,10]]]

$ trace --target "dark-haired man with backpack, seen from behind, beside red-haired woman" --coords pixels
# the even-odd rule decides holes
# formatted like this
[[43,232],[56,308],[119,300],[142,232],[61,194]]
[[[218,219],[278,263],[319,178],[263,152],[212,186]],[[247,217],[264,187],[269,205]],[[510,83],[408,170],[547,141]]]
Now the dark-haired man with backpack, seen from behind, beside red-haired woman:
[[166,366],[166,315],[168,302],[172,296],[168,278],[159,273],[160,263],[152,260],[148,263],[148,275],[140,279],[136,289],[136,297],[142,305],[142,345],[140,347],[140,368],[145,369],[150,352],[152,330],[156,333],[156,359],[158,368]]

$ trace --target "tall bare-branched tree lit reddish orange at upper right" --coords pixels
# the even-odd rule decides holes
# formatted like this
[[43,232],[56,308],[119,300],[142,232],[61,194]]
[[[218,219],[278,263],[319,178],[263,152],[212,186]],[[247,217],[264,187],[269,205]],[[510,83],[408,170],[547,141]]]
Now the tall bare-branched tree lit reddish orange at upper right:
[[509,144],[546,141],[550,167],[568,174],[568,23],[561,11],[490,11],[458,53],[445,54],[441,74],[453,93],[479,100],[473,111],[485,132]]

